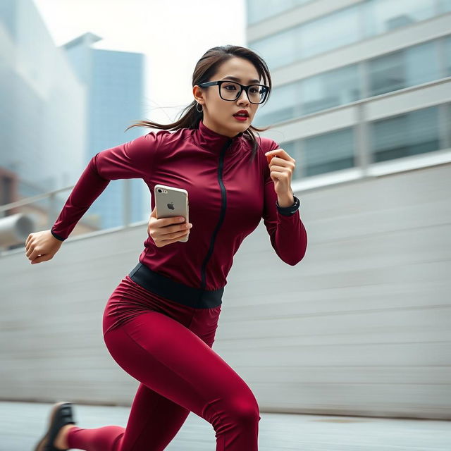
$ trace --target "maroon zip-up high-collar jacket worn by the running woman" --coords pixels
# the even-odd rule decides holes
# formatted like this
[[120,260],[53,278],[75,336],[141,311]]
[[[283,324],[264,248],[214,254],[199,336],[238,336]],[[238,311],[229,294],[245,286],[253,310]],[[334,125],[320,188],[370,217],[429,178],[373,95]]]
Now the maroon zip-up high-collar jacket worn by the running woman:
[[[279,210],[265,152],[279,146],[257,137],[261,146],[250,161],[252,144],[243,133],[220,135],[201,121],[198,129],[158,130],[94,155],[70,193],[51,233],[66,240],[110,180],[142,178],[154,192],[157,183],[183,188],[190,202],[187,242],[157,247],[148,236],[140,262],[189,287],[216,290],[227,283],[233,256],[261,218],[278,257],[297,264],[307,249],[299,210]],[[151,207],[154,209],[152,197]]]

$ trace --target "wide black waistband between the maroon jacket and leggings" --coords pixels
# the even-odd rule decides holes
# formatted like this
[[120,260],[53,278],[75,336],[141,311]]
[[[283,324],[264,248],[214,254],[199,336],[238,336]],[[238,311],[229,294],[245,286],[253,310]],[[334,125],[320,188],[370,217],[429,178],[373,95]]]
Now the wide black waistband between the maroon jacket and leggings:
[[224,288],[202,290],[201,288],[189,287],[152,271],[149,266],[143,265],[141,262],[130,271],[128,276],[142,288],[189,307],[210,309],[222,304]]

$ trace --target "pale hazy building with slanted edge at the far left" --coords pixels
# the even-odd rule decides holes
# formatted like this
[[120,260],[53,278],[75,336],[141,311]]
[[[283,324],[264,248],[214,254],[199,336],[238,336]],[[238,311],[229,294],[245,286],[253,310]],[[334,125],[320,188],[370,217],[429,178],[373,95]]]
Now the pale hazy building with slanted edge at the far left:
[[75,183],[85,147],[86,101],[85,87],[54,46],[35,5],[0,1],[3,204]]

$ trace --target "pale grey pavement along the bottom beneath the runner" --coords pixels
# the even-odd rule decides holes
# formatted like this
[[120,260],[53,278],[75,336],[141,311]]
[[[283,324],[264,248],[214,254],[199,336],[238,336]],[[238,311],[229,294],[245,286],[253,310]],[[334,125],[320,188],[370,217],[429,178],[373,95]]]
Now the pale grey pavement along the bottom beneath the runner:
[[[32,451],[47,430],[52,404],[0,402],[0,451]],[[74,403],[75,421],[82,428],[125,427],[129,412],[130,407]],[[260,416],[259,451],[451,451],[451,421],[265,412]],[[191,412],[166,450],[215,448],[213,427]]]

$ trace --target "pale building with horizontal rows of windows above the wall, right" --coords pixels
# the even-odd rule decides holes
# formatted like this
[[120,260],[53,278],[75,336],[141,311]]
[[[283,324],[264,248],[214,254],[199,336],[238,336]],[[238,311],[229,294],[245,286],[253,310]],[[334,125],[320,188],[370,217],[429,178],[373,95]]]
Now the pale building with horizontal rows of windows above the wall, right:
[[248,47],[273,89],[254,125],[302,162],[294,180],[450,151],[451,0],[288,1],[252,16],[261,5],[247,2]]

